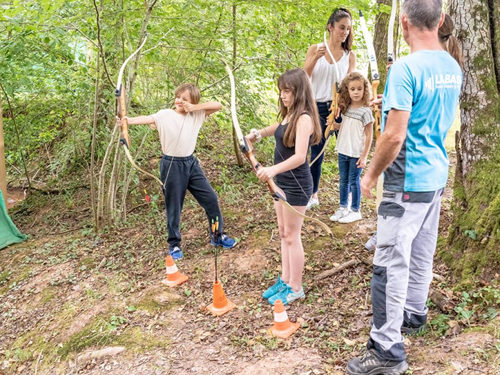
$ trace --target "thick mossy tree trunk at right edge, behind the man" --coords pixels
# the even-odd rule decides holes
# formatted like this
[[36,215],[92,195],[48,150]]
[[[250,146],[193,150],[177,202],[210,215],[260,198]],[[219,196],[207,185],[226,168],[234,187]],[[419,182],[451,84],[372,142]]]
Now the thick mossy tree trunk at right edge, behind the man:
[[453,223],[441,256],[462,278],[500,270],[500,0],[451,0],[463,53]]

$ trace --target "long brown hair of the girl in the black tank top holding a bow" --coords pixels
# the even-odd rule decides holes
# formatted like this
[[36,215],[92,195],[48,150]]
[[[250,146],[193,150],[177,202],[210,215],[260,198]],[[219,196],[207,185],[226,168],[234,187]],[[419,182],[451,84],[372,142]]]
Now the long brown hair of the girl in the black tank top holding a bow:
[[321,125],[307,73],[299,68],[286,70],[278,78],[278,89],[280,91],[288,89],[293,92],[293,103],[289,108],[284,106],[281,95],[279,95],[278,99],[278,119],[281,118],[282,120],[288,116],[288,126],[283,136],[284,145],[291,147],[295,144],[297,121],[304,112],[309,114],[312,119],[311,142],[312,144],[319,143],[321,140]]

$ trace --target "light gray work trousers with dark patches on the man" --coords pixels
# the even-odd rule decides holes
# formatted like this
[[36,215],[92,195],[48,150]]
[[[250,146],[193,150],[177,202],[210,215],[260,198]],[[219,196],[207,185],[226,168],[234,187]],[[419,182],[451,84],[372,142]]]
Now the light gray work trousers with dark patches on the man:
[[427,318],[442,192],[383,192],[371,278],[373,326],[367,344],[383,359],[404,360],[401,325],[417,327]]

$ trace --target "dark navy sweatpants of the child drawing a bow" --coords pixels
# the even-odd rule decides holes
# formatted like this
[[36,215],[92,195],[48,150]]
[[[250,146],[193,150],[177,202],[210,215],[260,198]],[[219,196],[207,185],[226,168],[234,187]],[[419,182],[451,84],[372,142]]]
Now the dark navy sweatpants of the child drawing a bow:
[[[168,171],[170,169],[170,171]],[[194,196],[198,203],[204,208],[208,217],[208,228],[211,219],[218,216],[219,232],[222,232],[223,220],[218,205],[218,197],[205,177],[198,159],[190,156],[161,156],[160,178],[164,182],[163,194],[165,196],[165,209],[168,228],[168,243],[170,245],[180,244],[179,221],[180,211],[184,204],[186,191]]]

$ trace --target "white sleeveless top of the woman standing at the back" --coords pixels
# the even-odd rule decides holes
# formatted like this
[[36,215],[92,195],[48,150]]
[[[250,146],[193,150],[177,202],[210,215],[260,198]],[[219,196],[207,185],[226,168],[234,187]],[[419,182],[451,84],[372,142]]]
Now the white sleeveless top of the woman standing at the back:
[[[322,44],[322,43],[319,43]],[[317,45],[319,45],[317,44]],[[339,81],[345,78],[347,70],[349,70],[349,52],[344,51],[344,54],[337,61]],[[331,86],[336,82],[336,70],[333,64],[326,61],[325,56],[321,56],[312,69],[310,77],[312,85],[312,94],[316,101],[331,100]]]

